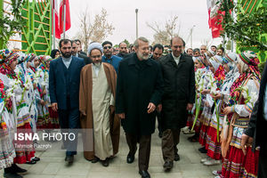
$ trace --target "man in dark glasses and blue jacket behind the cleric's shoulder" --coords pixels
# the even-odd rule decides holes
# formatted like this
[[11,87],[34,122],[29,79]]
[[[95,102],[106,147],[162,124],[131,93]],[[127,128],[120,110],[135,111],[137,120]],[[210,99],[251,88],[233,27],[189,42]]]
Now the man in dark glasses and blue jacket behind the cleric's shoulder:
[[105,41],[102,43],[103,53],[102,62],[108,62],[113,68],[116,70],[118,69],[118,64],[121,61],[120,57],[112,55],[112,43],[109,41]]

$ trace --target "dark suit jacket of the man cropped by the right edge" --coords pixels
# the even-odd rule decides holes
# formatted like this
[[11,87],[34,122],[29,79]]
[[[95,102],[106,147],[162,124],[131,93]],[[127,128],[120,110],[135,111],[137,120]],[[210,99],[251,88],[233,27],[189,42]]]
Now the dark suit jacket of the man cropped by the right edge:
[[247,127],[247,134],[250,137],[254,137],[253,150],[257,146],[263,146],[266,144],[266,129],[267,129],[267,121],[263,116],[263,102],[265,98],[265,88],[267,84],[267,66],[265,65],[265,69],[263,70],[263,77],[260,85],[260,93],[258,101],[255,102],[255,107],[251,113],[250,121]]

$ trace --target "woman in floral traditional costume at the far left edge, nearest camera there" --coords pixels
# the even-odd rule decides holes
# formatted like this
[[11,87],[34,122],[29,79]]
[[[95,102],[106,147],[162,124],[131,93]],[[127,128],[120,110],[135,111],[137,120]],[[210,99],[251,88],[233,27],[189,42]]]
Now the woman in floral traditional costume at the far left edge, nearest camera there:
[[[0,51],[0,79],[4,84],[4,90],[8,97],[6,101],[6,108],[9,111],[9,118],[14,124],[14,128],[17,129],[17,134],[29,134],[31,133],[31,127],[29,125],[30,117],[28,113],[28,104],[26,103],[26,96],[23,94],[24,83],[20,78],[20,75],[15,73],[16,65],[20,55],[16,52],[10,52],[9,50]],[[5,116],[5,120],[7,120]],[[5,121],[6,122],[6,121]],[[20,168],[16,164],[31,163],[31,158],[34,158],[34,149],[32,141],[19,141],[14,139],[14,146],[16,157],[13,159],[11,167],[4,169],[5,177],[21,177],[17,173],[27,172],[25,169]]]

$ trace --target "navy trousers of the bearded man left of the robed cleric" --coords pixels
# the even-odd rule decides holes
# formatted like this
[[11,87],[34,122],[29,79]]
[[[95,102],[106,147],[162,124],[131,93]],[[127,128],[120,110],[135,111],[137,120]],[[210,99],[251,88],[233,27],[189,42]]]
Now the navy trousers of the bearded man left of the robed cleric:
[[[75,135],[74,141],[63,140],[63,144],[65,149],[67,150],[66,155],[76,155],[77,154],[77,129],[79,128],[79,116],[80,112],[79,109],[70,109],[70,101],[67,100],[67,106],[69,109],[59,109],[59,118],[60,118],[60,125],[61,125],[61,133],[69,133]],[[71,137],[72,139],[72,137]]]

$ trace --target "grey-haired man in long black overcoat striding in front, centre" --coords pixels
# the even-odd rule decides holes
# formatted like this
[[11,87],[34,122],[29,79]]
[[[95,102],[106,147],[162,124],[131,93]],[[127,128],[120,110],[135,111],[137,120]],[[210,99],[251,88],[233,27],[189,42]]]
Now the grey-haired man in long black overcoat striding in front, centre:
[[139,142],[139,174],[150,178],[151,134],[155,132],[155,109],[161,99],[163,80],[158,62],[149,59],[149,41],[139,37],[134,47],[136,53],[127,55],[118,66],[116,113],[122,119],[129,147],[127,163],[134,162]]

